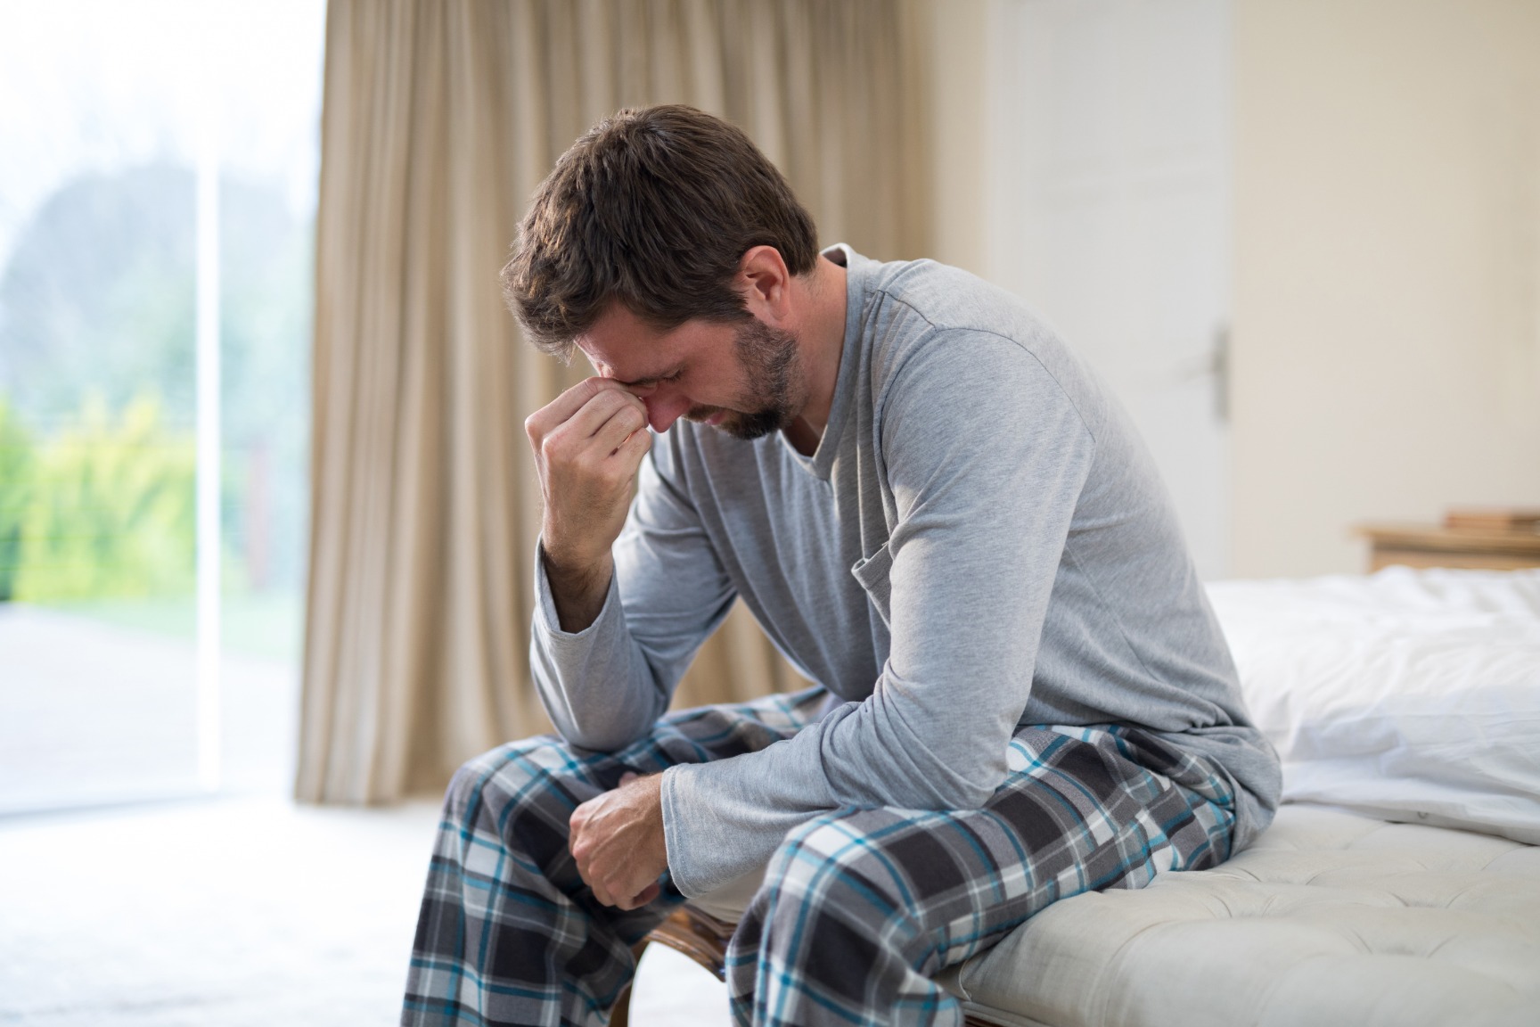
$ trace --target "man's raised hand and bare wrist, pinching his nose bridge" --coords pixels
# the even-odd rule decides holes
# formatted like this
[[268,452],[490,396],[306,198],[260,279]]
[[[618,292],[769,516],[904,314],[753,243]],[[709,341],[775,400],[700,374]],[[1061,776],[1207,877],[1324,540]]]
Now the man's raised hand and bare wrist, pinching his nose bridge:
[[564,631],[581,631],[610,588],[610,545],[651,445],[647,406],[622,385],[591,377],[530,414],[524,430],[545,497],[541,545],[556,614]]

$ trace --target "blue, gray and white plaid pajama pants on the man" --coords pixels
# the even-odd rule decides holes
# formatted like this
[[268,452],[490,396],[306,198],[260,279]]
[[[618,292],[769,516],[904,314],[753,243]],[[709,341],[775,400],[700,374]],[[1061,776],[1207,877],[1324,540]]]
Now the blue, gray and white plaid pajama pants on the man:
[[[812,688],[664,718],[616,753],[554,738],[467,764],[445,798],[402,1024],[604,1024],[631,945],[684,898],[601,905],[567,819],[627,770],[756,751],[805,727]],[[1137,888],[1229,856],[1234,795],[1212,762],[1129,727],[1023,727],[979,810],[836,810],[790,831],[727,952],[735,1024],[962,1022],[932,982],[1055,899]]]

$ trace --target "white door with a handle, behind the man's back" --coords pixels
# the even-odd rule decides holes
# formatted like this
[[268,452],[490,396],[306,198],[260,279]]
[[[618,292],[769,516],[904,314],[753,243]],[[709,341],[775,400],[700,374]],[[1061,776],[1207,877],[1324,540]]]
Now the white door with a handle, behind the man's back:
[[1127,406],[1229,564],[1229,0],[990,0],[989,276]]

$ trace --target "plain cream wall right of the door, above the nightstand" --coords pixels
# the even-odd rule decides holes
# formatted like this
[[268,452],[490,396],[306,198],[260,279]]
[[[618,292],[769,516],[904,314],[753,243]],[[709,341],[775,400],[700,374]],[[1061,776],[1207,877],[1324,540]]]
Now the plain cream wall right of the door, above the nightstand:
[[1234,559],[1540,503],[1540,3],[1238,0]]

